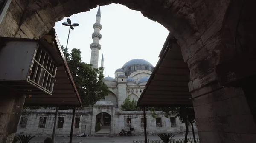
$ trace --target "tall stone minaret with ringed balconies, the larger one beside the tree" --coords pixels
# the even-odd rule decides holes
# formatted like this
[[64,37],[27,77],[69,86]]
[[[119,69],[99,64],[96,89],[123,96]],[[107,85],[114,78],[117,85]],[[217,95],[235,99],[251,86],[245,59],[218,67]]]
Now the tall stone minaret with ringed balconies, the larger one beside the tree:
[[93,64],[94,68],[98,68],[99,61],[99,50],[101,49],[101,45],[99,44],[99,40],[102,38],[100,34],[100,30],[102,29],[102,25],[100,24],[101,14],[100,14],[100,6],[98,12],[96,14],[96,22],[93,24],[94,32],[92,34],[93,43],[91,43],[90,48],[92,50],[91,53],[91,61],[90,64]]

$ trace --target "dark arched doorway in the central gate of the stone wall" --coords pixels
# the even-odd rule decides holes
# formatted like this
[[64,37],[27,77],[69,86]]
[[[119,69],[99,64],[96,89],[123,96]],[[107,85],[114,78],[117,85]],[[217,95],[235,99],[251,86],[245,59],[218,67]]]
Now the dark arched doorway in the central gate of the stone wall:
[[108,113],[99,113],[96,115],[96,133],[110,133],[111,129],[111,115]]

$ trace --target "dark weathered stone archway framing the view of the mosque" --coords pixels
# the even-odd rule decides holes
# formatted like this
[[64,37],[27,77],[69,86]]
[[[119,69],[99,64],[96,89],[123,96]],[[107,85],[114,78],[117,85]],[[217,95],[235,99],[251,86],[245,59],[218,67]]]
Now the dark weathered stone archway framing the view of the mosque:
[[[189,91],[194,98],[199,135],[205,136],[201,136],[202,143],[220,142],[225,137],[239,136],[240,140],[245,133],[250,133],[247,138],[253,142],[256,133],[250,131],[255,130],[256,121],[243,122],[251,119],[253,114],[243,89],[220,89],[215,67],[243,53],[243,50],[234,50],[239,46],[241,49],[249,47],[247,52],[256,54],[253,50],[256,22],[251,18],[256,13],[255,0],[246,3],[242,0],[12,0],[0,25],[0,36],[39,39],[65,16],[110,3],[141,11],[145,17],[166,27],[177,39],[190,70]],[[240,40],[234,40],[238,38]],[[18,101],[19,105],[23,104],[21,99]],[[236,102],[236,107],[230,104]],[[250,105],[255,109],[253,103]],[[211,114],[204,115],[208,110]],[[224,129],[230,123],[233,129]],[[246,123],[244,128],[241,123]],[[250,131],[246,130],[247,127]],[[206,137],[210,136],[215,140],[207,140]]]

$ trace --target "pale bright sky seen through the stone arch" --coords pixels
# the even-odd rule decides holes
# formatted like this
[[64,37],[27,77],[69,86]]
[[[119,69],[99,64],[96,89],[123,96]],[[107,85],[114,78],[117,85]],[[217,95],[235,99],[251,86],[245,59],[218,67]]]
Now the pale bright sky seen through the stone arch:
[[[93,42],[91,35],[94,32],[93,24],[98,8],[99,6],[87,12],[64,17],[56,22],[54,27],[59,42],[66,47],[69,28],[61,23],[67,22],[67,18],[70,18],[72,23],[79,23],[74,30],[70,30],[67,48],[69,52],[72,48],[80,49],[82,61],[86,63],[90,63],[90,44]],[[169,31],[159,23],[144,17],[140,11],[131,10],[126,6],[111,4],[100,8],[102,48],[99,51],[99,66],[104,53],[105,77],[114,77],[116,69],[131,59],[145,59],[155,66]]]

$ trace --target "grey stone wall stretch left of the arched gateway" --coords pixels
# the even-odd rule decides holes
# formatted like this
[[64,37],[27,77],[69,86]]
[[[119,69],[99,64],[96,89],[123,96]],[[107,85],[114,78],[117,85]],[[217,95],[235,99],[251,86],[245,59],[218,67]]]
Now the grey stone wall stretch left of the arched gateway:
[[[72,123],[72,112],[73,111],[61,111],[58,112],[58,117],[64,117],[63,128],[56,128],[56,136],[69,136],[71,123]],[[82,132],[85,134],[90,134],[91,132],[91,120],[92,120],[92,112],[91,111],[76,111],[75,117],[80,118],[83,116],[82,121]],[[55,110],[28,110],[27,116],[28,121],[26,127],[18,127],[17,134],[23,135],[36,135],[36,136],[51,136],[53,131],[53,125],[55,120]],[[40,117],[47,117],[46,124],[44,128],[39,127],[39,119]],[[78,128],[73,130],[73,134],[77,135]]]

